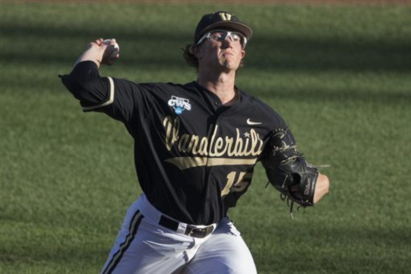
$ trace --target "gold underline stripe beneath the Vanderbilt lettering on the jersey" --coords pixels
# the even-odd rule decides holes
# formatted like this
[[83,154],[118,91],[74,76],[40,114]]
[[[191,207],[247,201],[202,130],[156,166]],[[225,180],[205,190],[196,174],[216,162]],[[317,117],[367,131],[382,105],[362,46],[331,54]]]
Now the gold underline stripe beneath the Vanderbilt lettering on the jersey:
[[233,158],[207,158],[207,157],[175,157],[166,159],[166,162],[172,163],[179,169],[188,169],[195,167],[213,167],[213,166],[240,166],[254,165],[257,158],[253,159],[233,159]]

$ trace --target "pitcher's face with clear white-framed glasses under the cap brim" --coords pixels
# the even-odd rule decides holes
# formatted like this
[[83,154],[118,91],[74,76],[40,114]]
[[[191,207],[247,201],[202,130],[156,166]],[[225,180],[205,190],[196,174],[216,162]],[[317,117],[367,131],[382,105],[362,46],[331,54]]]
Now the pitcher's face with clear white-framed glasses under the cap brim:
[[238,32],[216,30],[204,34],[195,52],[200,69],[201,66],[208,66],[225,72],[237,70],[246,54],[245,41],[244,36]]

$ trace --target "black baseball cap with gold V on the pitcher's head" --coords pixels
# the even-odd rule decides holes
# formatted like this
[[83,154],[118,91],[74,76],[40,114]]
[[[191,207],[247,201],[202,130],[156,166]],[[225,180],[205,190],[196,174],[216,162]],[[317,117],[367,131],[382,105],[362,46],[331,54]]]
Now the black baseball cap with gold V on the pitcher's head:
[[202,16],[194,33],[194,43],[197,43],[202,35],[214,29],[238,31],[244,34],[247,40],[250,40],[253,35],[252,29],[246,24],[241,23],[235,15],[227,11],[216,11]]

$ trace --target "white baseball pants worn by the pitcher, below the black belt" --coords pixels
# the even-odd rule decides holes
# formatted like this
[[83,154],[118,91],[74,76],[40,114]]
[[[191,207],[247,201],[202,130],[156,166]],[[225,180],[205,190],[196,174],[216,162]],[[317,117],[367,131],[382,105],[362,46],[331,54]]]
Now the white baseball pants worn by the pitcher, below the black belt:
[[128,208],[101,273],[257,273],[248,247],[228,218],[211,234],[195,238],[184,234],[184,223],[178,223],[177,231],[160,225],[163,215],[142,194]]

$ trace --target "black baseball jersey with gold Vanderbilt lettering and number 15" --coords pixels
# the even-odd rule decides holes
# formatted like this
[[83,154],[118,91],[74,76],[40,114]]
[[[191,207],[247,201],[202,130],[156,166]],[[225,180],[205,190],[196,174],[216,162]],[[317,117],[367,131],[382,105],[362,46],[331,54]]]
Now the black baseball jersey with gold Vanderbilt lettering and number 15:
[[79,63],[62,81],[84,111],[124,123],[134,138],[139,184],[158,210],[181,222],[216,223],[252,179],[265,138],[283,119],[241,90],[231,106],[197,82],[143,83],[100,77]]

